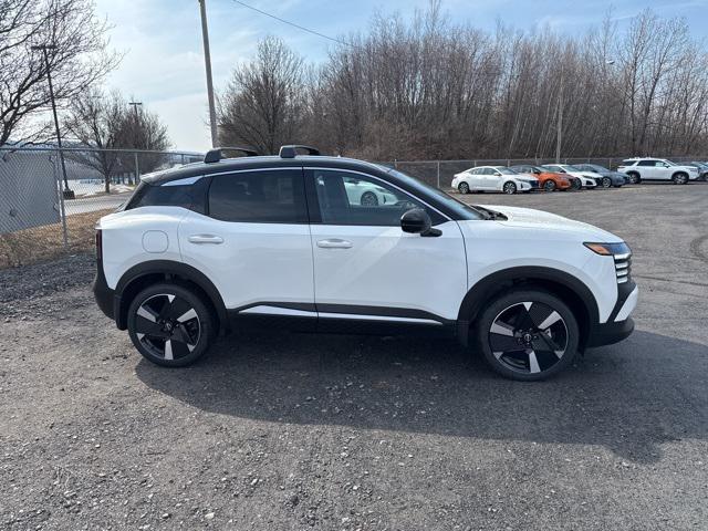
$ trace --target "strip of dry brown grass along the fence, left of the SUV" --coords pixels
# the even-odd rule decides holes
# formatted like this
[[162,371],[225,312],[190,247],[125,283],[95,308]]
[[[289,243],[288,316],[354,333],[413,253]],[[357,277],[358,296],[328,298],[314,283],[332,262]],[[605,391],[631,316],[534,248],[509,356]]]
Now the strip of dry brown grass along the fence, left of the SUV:
[[67,248],[64,247],[61,223],[0,235],[0,269],[51,260],[67,252],[92,250],[96,221],[112,211],[113,209],[106,209],[67,216]]

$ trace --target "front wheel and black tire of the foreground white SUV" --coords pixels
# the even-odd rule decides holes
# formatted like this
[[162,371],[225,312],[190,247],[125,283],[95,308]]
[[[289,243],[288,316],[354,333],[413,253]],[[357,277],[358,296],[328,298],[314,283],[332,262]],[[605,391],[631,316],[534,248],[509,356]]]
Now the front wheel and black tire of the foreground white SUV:
[[580,340],[568,305],[533,288],[508,291],[487,304],[473,333],[493,371],[524,382],[548,378],[571,365]]

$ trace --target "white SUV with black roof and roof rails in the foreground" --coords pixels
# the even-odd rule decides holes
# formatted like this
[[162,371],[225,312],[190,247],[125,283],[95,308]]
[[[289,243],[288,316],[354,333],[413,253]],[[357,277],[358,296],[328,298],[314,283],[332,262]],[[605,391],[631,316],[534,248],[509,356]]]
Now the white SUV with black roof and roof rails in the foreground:
[[266,326],[457,337],[502,375],[540,379],[629,335],[638,293],[629,248],[610,232],[467,206],[303,146],[214,150],[145,176],[100,220],[96,244],[100,308],[167,366],[194,362],[219,332]]

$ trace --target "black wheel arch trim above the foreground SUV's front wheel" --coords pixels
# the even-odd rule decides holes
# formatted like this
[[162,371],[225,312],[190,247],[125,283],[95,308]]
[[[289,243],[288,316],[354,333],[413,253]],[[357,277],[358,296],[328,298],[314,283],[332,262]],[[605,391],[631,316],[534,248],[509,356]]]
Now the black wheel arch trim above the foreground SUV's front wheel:
[[[585,329],[586,335],[592,334],[600,322],[600,310],[591,289],[582,280],[560,269],[523,266],[496,271],[477,281],[475,285],[467,291],[460,304],[457,320],[457,335],[462,344],[468,343],[469,325],[477,319],[483,304],[489,301],[491,296],[503,291],[509,282],[511,282],[511,284],[519,284],[523,282],[531,283],[533,281],[555,284],[564,290],[571,291],[582,302],[587,313],[587,322],[585,323],[581,323],[580,316],[576,315],[579,324]],[[587,337],[584,337],[584,340],[586,341]],[[582,346],[584,345],[581,345],[581,347]]]

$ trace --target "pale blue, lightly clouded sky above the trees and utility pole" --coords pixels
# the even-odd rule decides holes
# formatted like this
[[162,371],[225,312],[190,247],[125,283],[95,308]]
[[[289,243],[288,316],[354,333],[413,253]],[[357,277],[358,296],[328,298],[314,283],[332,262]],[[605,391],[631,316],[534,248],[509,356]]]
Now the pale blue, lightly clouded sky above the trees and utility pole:
[[[406,15],[428,4],[427,0],[244,1],[332,37],[364,30],[376,10]],[[157,112],[167,124],[176,149],[207,149],[210,137],[197,0],[96,0],[96,4],[114,27],[111,46],[125,53],[108,79],[108,87],[118,88]],[[569,34],[598,24],[611,6],[620,21],[650,6],[663,17],[686,17],[696,37],[708,34],[708,0],[442,0],[444,10],[454,20],[469,21],[478,28],[493,30],[501,19],[520,29],[548,24]],[[282,38],[314,62],[323,60],[332,44],[232,0],[207,0],[207,9],[217,91],[227,84],[236,64],[252,56],[258,40],[267,34]]]

